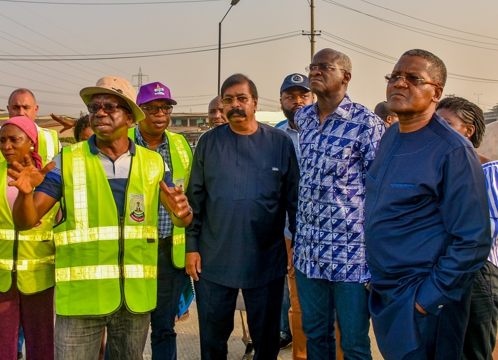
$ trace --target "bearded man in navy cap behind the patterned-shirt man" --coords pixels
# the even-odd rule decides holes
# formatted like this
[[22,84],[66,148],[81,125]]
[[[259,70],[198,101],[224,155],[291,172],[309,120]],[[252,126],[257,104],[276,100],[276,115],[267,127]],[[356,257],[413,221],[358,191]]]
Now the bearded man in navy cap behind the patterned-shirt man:
[[[301,169],[301,157],[299,155],[299,140],[294,123],[294,114],[303,106],[313,103],[313,93],[310,90],[308,77],[301,74],[291,74],[285,78],[280,87],[280,107],[287,118],[277,124],[275,128],[285,131],[294,143],[297,162]],[[287,252],[291,249],[292,234],[286,228],[284,230]],[[282,304],[282,320],[280,323],[280,349],[292,344],[292,359],[306,359],[306,336],[303,333],[301,321],[301,307],[297,297],[296,274],[291,268],[285,278],[284,300]]]

